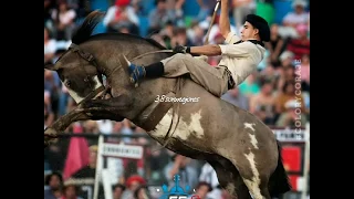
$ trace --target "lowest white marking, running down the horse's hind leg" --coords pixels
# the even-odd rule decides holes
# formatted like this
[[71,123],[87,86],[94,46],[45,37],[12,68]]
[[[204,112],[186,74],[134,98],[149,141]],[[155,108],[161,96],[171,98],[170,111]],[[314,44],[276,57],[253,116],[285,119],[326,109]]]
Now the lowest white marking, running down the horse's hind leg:
[[261,189],[259,188],[259,186],[261,184],[261,179],[259,178],[259,171],[256,167],[254,154],[251,151],[248,155],[244,154],[244,156],[251,165],[251,170],[252,170],[253,177],[251,178],[251,180],[242,177],[243,181],[254,199],[263,199],[264,197],[262,196]]

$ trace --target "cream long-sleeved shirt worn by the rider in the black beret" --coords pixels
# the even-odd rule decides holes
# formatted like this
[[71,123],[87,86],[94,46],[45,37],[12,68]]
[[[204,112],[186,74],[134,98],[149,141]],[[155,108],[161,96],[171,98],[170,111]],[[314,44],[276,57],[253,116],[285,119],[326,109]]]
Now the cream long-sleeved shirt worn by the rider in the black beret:
[[252,42],[233,44],[240,40],[237,34],[230,32],[225,40],[226,44],[219,44],[221,61],[218,65],[229,69],[236,85],[241,84],[251,73],[257,71],[257,66],[266,53],[263,46]]

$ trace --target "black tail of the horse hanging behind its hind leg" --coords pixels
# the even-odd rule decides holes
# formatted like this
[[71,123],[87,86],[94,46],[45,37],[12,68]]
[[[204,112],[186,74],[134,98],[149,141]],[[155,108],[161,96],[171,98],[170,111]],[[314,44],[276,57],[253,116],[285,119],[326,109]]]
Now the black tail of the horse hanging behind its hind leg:
[[281,145],[278,140],[277,145],[279,154],[278,166],[269,179],[269,192],[271,197],[279,197],[279,195],[285,193],[291,190],[289,177],[284,169],[283,159],[281,156]]

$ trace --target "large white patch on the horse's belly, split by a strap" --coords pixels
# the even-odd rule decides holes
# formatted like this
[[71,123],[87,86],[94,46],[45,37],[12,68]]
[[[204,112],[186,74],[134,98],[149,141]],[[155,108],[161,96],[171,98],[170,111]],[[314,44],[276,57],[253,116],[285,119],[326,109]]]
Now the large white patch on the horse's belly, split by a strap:
[[[165,137],[171,119],[173,119],[173,109],[170,108],[166,115],[163,117],[163,119],[156,125],[156,129],[152,130],[152,135],[156,137]],[[184,118],[180,116],[179,124],[176,128],[176,132],[174,133],[173,137],[178,137],[183,140],[187,140],[188,137],[194,134],[196,137],[201,138],[204,136],[204,129],[200,124],[200,112],[194,113],[190,115],[190,123],[187,124]],[[174,124],[171,126],[171,130],[175,129],[177,123],[177,116],[174,118]]]

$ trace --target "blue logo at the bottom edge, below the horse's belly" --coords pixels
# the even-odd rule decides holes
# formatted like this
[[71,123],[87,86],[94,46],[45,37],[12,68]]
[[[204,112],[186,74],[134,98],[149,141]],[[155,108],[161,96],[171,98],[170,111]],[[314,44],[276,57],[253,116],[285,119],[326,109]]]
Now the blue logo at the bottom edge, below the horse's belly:
[[[163,196],[159,197],[159,199],[199,199],[197,195],[188,195],[188,191],[190,190],[189,186],[186,186],[185,189],[179,186],[180,176],[175,175],[174,181],[175,186],[168,190],[167,185],[163,185]],[[159,191],[159,190],[157,190]]]

